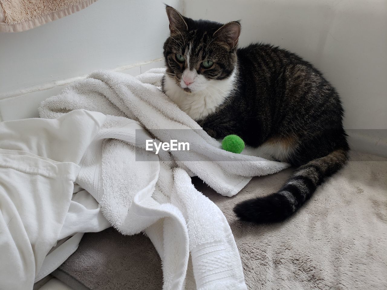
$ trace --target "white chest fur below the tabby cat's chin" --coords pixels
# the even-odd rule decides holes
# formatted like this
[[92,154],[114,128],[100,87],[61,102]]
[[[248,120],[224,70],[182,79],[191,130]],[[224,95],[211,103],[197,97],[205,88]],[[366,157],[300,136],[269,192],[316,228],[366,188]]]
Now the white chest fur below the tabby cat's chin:
[[[203,77],[204,78],[204,77]],[[198,91],[187,93],[175,80],[165,76],[165,94],[175,102],[182,111],[194,120],[200,120],[213,113],[223,104],[235,85],[236,72],[224,80],[206,80],[205,86]]]

